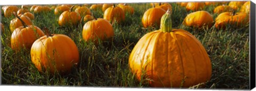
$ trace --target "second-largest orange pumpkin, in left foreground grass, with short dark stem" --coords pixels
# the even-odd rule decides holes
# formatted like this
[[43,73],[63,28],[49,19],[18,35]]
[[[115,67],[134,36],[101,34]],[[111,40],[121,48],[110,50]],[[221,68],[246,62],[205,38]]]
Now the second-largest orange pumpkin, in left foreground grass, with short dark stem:
[[37,39],[30,50],[31,61],[39,72],[67,74],[77,67],[79,52],[74,41],[66,35],[50,34]]

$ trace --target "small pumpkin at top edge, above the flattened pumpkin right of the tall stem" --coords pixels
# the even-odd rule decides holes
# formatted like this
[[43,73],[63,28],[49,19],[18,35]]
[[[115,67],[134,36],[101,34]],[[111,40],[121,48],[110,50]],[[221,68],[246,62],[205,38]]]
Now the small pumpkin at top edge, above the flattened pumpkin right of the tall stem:
[[204,9],[203,2],[189,2],[186,6],[187,11],[199,11]]

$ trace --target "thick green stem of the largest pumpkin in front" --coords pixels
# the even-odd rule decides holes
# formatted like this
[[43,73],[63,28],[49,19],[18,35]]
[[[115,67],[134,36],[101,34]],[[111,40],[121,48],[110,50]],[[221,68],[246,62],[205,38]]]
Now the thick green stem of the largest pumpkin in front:
[[161,18],[160,29],[163,32],[172,31],[172,12],[168,9]]

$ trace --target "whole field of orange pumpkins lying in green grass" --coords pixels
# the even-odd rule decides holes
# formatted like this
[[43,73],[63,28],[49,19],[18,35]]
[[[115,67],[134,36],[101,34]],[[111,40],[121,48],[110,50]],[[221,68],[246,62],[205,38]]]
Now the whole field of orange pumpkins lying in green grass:
[[1,84],[249,89],[250,1],[1,6]]

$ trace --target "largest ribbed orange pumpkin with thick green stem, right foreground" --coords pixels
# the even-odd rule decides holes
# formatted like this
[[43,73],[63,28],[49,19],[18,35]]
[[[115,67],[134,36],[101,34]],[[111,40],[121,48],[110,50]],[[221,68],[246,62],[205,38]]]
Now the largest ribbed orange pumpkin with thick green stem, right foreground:
[[172,29],[169,11],[161,19],[161,28],[134,46],[129,67],[138,80],[149,79],[152,87],[190,87],[210,80],[212,74],[204,46],[188,31]]

